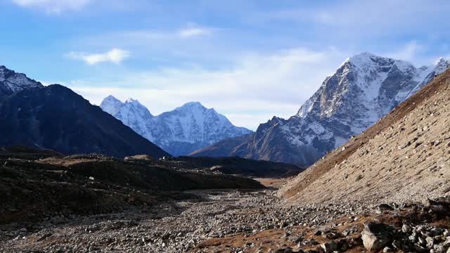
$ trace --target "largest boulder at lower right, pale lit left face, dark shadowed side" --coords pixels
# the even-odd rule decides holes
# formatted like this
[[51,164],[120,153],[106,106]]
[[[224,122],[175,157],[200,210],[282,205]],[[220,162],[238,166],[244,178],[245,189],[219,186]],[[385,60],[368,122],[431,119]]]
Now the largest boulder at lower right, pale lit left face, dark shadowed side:
[[383,223],[366,223],[361,232],[361,239],[368,251],[378,252],[390,242],[390,226]]

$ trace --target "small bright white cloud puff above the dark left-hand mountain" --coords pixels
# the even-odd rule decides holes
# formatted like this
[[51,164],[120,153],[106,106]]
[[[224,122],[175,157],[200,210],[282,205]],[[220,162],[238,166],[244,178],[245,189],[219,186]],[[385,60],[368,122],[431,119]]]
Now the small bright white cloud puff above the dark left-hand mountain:
[[105,53],[79,53],[79,52],[70,52],[67,54],[69,58],[74,60],[83,60],[85,63],[89,65],[96,65],[98,63],[122,63],[122,61],[126,58],[129,58],[129,52],[124,51],[122,49],[113,48]]

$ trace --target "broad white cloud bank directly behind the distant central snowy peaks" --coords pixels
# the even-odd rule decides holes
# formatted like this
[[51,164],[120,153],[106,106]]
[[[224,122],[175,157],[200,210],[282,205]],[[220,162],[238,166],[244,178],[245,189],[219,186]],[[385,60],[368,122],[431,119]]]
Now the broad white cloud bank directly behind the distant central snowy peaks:
[[234,124],[256,129],[274,115],[295,115],[345,58],[347,53],[334,48],[291,48],[273,54],[247,54],[221,70],[161,68],[124,73],[109,80],[99,77],[101,82],[83,80],[65,85],[97,105],[110,94],[122,100],[133,97],[153,114],[200,101]]

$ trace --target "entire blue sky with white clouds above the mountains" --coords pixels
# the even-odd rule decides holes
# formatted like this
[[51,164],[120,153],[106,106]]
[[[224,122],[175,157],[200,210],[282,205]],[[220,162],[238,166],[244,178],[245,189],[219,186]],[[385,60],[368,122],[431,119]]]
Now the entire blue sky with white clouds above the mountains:
[[449,1],[0,0],[0,65],[99,104],[189,101],[256,129],[362,51],[450,55]]

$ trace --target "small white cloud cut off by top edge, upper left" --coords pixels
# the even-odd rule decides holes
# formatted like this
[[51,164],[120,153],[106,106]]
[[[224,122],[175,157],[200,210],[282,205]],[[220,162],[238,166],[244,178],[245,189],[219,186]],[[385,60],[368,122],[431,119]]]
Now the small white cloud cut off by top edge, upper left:
[[46,13],[59,14],[64,11],[78,11],[91,0],[12,0],[13,3],[26,8],[37,8]]

